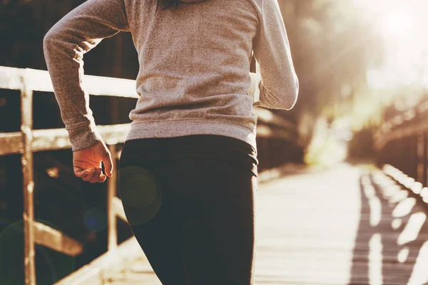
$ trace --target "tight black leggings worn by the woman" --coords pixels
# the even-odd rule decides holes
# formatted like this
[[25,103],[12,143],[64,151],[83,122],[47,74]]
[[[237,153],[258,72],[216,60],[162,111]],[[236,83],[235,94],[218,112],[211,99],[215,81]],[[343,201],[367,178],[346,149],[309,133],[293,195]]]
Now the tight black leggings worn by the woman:
[[220,135],[125,143],[123,207],[163,285],[253,284],[256,157]]

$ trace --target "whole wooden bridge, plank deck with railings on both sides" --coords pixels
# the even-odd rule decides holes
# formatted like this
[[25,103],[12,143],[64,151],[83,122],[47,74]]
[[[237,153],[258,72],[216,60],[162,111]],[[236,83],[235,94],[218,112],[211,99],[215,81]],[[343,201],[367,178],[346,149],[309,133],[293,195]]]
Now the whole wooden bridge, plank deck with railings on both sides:
[[[133,81],[86,78],[91,95],[136,98]],[[36,284],[35,244],[69,256],[83,251],[76,240],[34,220],[33,152],[70,147],[66,130],[32,129],[33,91],[52,92],[50,84],[46,71],[0,67],[0,88],[21,92],[21,132],[0,133],[0,155],[22,155],[23,267],[25,283],[31,285]],[[270,162],[280,157],[275,147],[281,145],[272,144],[275,138],[300,145],[290,121],[263,109],[255,113],[262,139],[260,154],[271,157]],[[391,147],[390,141],[415,137],[413,145],[409,142],[415,155],[409,158],[407,166],[412,167],[407,167],[407,174],[414,169],[410,176],[416,179],[382,163],[381,169],[369,162],[328,169],[263,164],[256,201],[255,284],[428,284],[428,137],[424,125],[409,128],[412,118],[407,115],[401,120],[407,131],[389,122],[380,129],[378,162],[394,153],[381,151]],[[123,142],[128,128],[98,126],[115,163],[121,152],[116,145]],[[135,239],[117,244],[116,218],[126,217],[116,197],[116,176],[108,180],[107,210],[106,254],[56,284],[160,284]]]

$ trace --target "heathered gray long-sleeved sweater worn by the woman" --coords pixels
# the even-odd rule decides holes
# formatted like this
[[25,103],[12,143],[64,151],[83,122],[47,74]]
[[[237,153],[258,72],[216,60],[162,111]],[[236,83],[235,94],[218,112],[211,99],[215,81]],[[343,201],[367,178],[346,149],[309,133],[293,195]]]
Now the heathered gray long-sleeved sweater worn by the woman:
[[[102,140],[81,84],[83,54],[120,31],[131,32],[140,63],[126,140],[225,135],[257,148],[255,101],[293,107],[298,80],[277,0],[185,2],[163,10],[157,0],[88,0],[46,33],[46,64],[73,151]],[[250,73],[252,53],[260,75]]]

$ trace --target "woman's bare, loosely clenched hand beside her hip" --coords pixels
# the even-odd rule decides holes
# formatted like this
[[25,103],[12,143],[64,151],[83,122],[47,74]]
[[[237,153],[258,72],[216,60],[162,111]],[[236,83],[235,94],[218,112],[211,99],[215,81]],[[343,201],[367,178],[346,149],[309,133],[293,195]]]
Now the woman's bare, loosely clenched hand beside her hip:
[[103,175],[101,162],[104,164],[104,171],[108,177],[113,172],[113,162],[111,153],[103,141],[73,152],[73,170],[76,177],[81,177],[83,181],[91,183],[106,181],[106,175]]

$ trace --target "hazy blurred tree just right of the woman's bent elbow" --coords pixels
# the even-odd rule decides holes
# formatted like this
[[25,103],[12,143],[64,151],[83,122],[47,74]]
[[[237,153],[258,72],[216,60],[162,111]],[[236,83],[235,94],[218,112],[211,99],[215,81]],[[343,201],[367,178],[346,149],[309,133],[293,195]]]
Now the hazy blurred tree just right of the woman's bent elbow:
[[347,113],[365,93],[369,68],[382,61],[382,43],[351,0],[279,0],[300,79],[297,118],[303,142],[315,120]]

